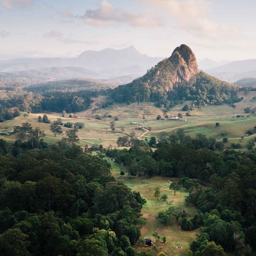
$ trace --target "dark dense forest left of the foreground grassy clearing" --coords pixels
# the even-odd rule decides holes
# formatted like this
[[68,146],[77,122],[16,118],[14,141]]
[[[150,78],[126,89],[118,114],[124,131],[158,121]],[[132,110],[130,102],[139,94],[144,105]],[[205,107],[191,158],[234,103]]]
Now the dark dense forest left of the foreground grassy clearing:
[[30,142],[0,139],[0,254],[135,255],[140,194],[65,139]]

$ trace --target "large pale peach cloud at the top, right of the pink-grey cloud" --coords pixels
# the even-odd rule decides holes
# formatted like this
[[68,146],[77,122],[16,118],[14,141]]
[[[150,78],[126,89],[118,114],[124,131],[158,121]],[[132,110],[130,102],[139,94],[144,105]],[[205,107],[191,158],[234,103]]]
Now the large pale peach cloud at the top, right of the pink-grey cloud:
[[142,0],[170,14],[176,27],[190,34],[208,38],[236,38],[241,31],[235,26],[207,17],[210,4],[206,0]]

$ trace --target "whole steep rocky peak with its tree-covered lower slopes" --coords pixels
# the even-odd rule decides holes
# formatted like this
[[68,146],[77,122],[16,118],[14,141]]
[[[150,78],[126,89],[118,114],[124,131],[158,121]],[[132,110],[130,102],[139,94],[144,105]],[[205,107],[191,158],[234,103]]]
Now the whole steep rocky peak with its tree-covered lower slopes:
[[237,87],[198,70],[192,50],[182,44],[143,77],[109,92],[117,102],[154,101],[169,108],[175,101],[192,100],[195,106],[238,101]]

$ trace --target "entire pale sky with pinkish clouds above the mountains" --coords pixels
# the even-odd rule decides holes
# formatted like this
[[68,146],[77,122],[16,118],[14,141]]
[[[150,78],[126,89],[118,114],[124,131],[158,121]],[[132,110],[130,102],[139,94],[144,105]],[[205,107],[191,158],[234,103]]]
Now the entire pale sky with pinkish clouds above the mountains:
[[169,56],[256,58],[256,0],[0,0],[0,55],[75,56],[133,44]]

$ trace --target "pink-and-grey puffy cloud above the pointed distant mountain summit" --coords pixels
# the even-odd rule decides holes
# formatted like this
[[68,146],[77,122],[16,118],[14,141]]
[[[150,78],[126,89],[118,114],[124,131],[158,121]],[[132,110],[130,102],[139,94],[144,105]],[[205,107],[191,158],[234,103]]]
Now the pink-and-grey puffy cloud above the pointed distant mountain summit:
[[98,9],[86,10],[85,15],[74,16],[66,11],[61,14],[64,18],[81,18],[85,23],[93,26],[111,26],[115,23],[126,23],[133,27],[155,27],[161,25],[161,20],[153,10],[146,10],[141,14],[126,12],[115,8],[106,0],[100,3]]

